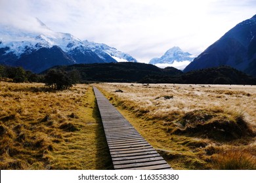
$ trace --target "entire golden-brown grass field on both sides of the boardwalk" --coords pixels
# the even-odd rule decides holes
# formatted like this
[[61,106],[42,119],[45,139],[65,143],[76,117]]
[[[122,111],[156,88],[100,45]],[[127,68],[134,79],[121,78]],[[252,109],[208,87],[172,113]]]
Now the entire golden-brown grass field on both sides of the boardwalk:
[[[256,86],[94,85],[174,169],[256,169]],[[112,169],[90,85],[0,82],[0,104],[0,169]]]

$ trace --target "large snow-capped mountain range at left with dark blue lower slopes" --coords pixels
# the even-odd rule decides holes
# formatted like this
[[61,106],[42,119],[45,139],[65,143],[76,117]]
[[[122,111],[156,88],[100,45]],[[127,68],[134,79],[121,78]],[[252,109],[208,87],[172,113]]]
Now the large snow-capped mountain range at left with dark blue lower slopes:
[[54,65],[135,61],[106,44],[81,41],[69,33],[56,33],[37,19],[38,30],[0,25],[0,64],[21,66],[40,73]]

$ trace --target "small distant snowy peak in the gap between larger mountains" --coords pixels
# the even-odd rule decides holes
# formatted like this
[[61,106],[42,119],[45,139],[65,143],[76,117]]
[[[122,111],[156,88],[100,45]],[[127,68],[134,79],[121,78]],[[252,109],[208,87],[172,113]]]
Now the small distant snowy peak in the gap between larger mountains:
[[177,69],[184,69],[196,56],[188,52],[183,52],[178,46],[167,50],[161,58],[153,58],[150,60],[150,64],[154,64],[158,67],[176,67]]

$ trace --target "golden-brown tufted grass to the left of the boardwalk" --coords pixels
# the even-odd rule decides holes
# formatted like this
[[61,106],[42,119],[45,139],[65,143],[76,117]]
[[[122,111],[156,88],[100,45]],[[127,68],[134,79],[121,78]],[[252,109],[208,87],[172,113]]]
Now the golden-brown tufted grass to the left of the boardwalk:
[[91,86],[0,82],[0,169],[112,169]]

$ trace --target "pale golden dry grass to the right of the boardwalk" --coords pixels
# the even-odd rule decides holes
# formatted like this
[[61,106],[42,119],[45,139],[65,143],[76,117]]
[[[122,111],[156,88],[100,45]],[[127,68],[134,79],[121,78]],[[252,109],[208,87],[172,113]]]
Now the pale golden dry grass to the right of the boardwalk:
[[255,159],[256,86],[96,86],[174,169],[231,169],[221,159],[234,148]]

